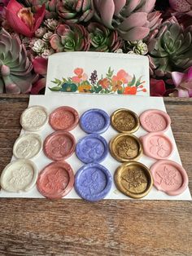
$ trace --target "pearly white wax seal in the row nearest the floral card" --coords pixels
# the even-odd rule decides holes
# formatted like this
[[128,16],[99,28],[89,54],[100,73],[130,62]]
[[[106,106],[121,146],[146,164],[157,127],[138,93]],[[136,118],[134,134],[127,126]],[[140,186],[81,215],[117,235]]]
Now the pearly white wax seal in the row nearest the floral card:
[[48,113],[42,106],[32,106],[26,108],[20,116],[20,125],[24,130],[38,131],[46,125]]

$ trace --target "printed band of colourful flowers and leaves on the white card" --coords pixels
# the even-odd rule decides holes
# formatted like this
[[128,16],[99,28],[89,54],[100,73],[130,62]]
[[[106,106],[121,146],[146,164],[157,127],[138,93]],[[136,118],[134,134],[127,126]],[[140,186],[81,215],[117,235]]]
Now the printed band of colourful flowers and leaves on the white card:
[[111,67],[101,76],[98,76],[96,69],[88,74],[84,68],[75,68],[71,77],[55,78],[52,83],[56,85],[49,87],[52,91],[124,95],[136,95],[139,91],[147,91],[142,76],[136,77],[124,69],[115,72]]

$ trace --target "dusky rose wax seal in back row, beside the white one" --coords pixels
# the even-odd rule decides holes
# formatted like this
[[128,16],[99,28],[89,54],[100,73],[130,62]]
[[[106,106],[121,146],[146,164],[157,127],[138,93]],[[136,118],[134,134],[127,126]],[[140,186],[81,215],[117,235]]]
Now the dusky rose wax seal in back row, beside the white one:
[[54,130],[72,130],[79,121],[79,114],[71,107],[56,108],[50,113],[49,123]]

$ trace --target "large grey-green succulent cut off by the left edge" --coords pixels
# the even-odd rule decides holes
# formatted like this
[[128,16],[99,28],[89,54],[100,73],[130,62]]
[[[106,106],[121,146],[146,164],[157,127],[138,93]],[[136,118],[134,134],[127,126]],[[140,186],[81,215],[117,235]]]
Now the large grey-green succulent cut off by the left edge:
[[36,75],[33,64],[16,35],[11,37],[5,29],[0,30],[0,92],[28,93]]

